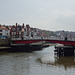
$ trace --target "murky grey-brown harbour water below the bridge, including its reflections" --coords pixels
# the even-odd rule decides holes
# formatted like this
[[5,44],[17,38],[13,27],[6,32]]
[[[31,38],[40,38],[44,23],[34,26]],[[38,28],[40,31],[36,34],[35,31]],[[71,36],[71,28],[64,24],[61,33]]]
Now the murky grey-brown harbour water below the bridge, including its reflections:
[[33,52],[1,52],[0,75],[75,75],[75,60],[56,57],[54,46]]

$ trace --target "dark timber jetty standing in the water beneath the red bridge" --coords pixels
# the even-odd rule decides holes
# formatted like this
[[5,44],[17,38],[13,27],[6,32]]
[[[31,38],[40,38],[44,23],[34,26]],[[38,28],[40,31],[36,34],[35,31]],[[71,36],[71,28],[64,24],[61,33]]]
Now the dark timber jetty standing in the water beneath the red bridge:
[[54,54],[57,56],[74,56],[74,46],[55,46]]

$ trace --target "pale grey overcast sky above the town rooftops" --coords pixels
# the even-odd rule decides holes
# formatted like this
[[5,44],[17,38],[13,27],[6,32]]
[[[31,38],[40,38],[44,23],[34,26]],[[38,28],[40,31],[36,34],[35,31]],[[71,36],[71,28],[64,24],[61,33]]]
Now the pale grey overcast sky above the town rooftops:
[[0,0],[0,24],[75,31],[75,0]]

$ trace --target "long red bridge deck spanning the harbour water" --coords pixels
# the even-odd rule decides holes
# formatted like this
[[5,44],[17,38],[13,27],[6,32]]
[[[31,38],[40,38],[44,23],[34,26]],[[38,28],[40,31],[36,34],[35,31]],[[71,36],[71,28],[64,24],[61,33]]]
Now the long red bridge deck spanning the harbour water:
[[65,41],[65,40],[50,40],[50,39],[29,39],[29,40],[12,40],[11,43],[13,44],[30,44],[34,42],[40,41],[48,41],[53,43],[59,43],[64,45],[75,45],[75,41]]

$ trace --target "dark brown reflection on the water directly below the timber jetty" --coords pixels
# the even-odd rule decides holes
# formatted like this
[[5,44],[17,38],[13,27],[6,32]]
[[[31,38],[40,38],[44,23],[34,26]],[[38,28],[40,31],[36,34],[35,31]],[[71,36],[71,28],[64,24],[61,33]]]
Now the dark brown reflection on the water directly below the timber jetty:
[[64,66],[65,69],[67,68],[75,68],[75,57],[55,57],[56,66]]

